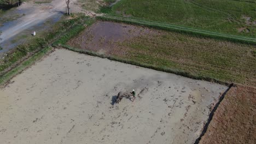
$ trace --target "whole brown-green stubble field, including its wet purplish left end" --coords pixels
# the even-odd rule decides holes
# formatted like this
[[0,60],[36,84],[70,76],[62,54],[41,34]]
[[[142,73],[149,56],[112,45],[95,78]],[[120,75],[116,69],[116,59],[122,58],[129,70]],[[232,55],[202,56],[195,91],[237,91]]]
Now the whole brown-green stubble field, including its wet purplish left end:
[[252,45],[106,21],[98,21],[67,44],[195,77],[255,85]]

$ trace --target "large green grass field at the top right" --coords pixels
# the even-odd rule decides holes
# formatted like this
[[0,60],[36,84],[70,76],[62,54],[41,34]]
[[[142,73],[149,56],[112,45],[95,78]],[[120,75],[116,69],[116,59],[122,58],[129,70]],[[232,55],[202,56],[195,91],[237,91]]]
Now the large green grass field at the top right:
[[122,0],[104,10],[110,15],[256,38],[255,0]]

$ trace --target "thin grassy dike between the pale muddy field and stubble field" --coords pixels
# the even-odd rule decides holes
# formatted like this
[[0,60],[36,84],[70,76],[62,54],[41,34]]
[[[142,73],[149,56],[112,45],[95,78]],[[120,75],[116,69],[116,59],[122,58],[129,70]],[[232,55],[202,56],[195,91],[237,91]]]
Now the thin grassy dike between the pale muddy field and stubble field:
[[210,81],[210,82],[216,82],[216,83],[220,83],[220,84],[226,85],[226,86],[230,85],[230,83],[228,83],[228,82],[220,81],[220,80],[213,79],[213,78],[207,77],[207,76],[197,76],[197,75],[193,75],[193,74],[190,74],[190,73],[188,73],[188,72],[185,72],[185,71],[182,71],[182,70],[178,70],[178,69],[171,69],[171,68],[167,68],[167,67],[159,67],[159,66],[156,66],[156,65],[147,64],[147,63],[142,63],[142,62],[138,62],[138,61],[131,61],[131,60],[129,60],[129,59],[124,59],[124,58],[120,58],[120,57],[106,56],[106,55],[99,54],[99,53],[94,52],[94,51],[76,49],[76,48],[74,48],[74,47],[72,47],[72,46],[65,45],[65,44],[59,44],[59,46],[64,47],[65,49],[68,49],[68,50],[71,50],[71,51],[74,51],[74,52],[85,53],[86,55],[90,55],[90,56],[96,56],[96,57],[101,57],[101,58],[107,58],[107,59],[112,60],[112,61],[118,61],[118,62],[122,62],[122,63],[137,65],[137,66],[139,66],[139,67],[154,69],[154,70],[158,70],[158,71],[164,71],[164,72],[166,72],[166,73],[177,74],[177,75],[189,77],[189,78],[191,78],[191,79],[205,80],[205,81]]

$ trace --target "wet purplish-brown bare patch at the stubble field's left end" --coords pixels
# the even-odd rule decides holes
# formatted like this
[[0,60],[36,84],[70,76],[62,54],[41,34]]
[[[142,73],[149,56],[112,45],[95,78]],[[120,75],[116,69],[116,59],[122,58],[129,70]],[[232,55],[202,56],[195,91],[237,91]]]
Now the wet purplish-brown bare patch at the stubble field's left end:
[[69,40],[68,45],[97,51],[104,54],[123,55],[124,51],[118,48],[118,43],[130,40],[145,34],[157,34],[154,29],[127,25],[124,23],[115,23],[107,21],[98,21],[78,37]]

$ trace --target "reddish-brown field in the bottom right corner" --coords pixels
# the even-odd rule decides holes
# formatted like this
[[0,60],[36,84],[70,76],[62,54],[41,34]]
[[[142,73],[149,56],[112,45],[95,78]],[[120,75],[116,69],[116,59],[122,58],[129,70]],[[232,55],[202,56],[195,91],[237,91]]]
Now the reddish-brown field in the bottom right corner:
[[214,112],[200,143],[255,143],[256,88],[234,86]]

